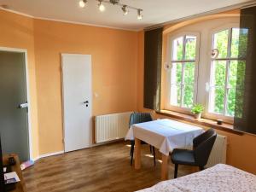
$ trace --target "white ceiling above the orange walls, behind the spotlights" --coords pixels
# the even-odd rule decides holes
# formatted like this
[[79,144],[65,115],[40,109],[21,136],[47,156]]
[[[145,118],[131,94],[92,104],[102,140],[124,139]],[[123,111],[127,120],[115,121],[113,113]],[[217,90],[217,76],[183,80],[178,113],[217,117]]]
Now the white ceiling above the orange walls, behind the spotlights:
[[88,0],[84,9],[79,8],[79,0],[0,0],[0,5],[8,5],[11,10],[36,18],[137,31],[163,22],[246,2],[250,1],[120,0],[120,3],[143,9],[143,20],[137,20],[136,10],[130,10],[128,15],[123,15],[121,9],[112,4],[106,4],[106,10],[102,13],[97,9],[96,0]]

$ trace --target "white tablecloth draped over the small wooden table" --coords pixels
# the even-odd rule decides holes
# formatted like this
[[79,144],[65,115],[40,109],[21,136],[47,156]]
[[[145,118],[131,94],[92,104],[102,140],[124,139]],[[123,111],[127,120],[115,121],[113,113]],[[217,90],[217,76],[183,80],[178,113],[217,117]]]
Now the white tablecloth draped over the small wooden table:
[[191,148],[193,139],[199,136],[203,129],[172,119],[159,119],[132,125],[125,140],[138,138],[168,155],[174,148]]

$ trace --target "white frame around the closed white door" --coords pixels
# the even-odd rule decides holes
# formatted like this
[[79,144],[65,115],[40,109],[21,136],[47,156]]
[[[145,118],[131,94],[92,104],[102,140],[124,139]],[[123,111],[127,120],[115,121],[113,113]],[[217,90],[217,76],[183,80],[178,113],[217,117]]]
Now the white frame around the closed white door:
[[[63,148],[64,148],[64,153],[69,153],[66,151],[66,148],[65,148],[65,110],[64,110],[64,89],[63,89],[63,86],[64,86],[64,83],[63,83],[63,59],[62,59],[62,56],[64,55],[90,55],[90,54],[73,54],[73,53],[61,53],[61,109],[62,109],[62,143],[63,143]],[[91,124],[90,124],[90,130],[91,130],[91,135],[90,135],[90,138],[91,138],[91,143],[90,143],[90,146],[88,148],[91,148],[93,147],[93,115],[92,115],[92,110],[93,110],[93,82],[92,82],[92,55],[90,55],[90,73],[91,73],[91,77],[90,77],[90,86],[91,86],[91,92],[90,92],[90,98],[91,98],[91,101],[90,101],[90,120],[91,120]]]

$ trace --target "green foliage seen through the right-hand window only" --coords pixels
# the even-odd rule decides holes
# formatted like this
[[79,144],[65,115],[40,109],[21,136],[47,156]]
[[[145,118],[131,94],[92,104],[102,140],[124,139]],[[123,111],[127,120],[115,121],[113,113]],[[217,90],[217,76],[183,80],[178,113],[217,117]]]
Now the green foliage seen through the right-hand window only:
[[[228,52],[228,38],[229,30],[218,32],[214,35],[214,48],[219,50],[218,58],[235,58],[233,61],[213,61],[214,73],[214,109],[215,113],[224,114],[224,101],[226,96],[226,113],[227,115],[234,116],[236,108],[236,81],[237,81],[237,68],[240,65],[238,58],[241,53],[240,49],[243,44],[243,50],[247,46],[247,33],[242,34],[240,29],[232,28],[230,53]],[[227,77],[227,84],[225,83],[227,67],[229,67]],[[227,88],[227,89],[226,89]],[[225,95],[226,91],[226,95]]]

